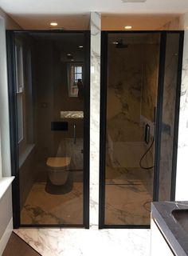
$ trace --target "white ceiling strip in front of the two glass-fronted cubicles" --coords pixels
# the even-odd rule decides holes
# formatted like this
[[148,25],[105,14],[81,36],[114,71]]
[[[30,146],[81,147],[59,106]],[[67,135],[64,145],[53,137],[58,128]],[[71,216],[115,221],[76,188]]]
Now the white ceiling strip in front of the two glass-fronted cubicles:
[[188,11],[187,0],[0,0],[0,6],[9,14],[79,14],[100,11],[121,14],[181,14]]

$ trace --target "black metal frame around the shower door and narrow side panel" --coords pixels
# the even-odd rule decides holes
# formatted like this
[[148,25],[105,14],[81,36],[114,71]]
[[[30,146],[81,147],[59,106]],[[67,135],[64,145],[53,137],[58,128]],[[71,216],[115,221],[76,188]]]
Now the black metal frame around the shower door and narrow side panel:
[[[163,86],[165,76],[166,61],[166,35],[179,34],[179,52],[178,52],[178,76],[175,100],[175,117],[174,117],[174,145],[173,145],[173,167],[171,178],[171,200],[174,200],[175,177],[177,166],[177,146],[178,146],[178,114],[181,91],[182,77],[182,51],[184,31],[103,31],[101,36],[101,73],[100,73],[100,207],[99,207],[99,227],[102,228],[149,228],[149,225],[105,225],[105,162],[106,162],[106,127],[107,127],[107,90],[108,90],[108,34],[160,34],[159,50],[159,83],[157,96],[157,113],[155,124],[155,169],[153,185],[153,201],[159,198],[159,163],[161,151],[161,133],[162,133],[162,114],[163,114]],[[157,142],[157,143],[156,143]]]

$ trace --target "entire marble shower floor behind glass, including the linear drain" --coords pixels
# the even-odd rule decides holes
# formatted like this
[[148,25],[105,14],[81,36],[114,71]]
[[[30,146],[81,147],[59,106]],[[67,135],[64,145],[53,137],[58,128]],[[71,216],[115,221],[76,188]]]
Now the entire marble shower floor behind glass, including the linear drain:
[[150,225],[153,176],[151,170],[107,166],[106,225]]

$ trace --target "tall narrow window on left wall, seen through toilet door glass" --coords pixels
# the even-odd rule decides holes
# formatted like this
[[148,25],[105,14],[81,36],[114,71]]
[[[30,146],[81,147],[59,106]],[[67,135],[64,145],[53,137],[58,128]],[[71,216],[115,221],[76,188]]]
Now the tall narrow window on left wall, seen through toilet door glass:
[[16,42],[16,94],[17,94],[17,114],[18,114],[18,143],[22,142],[23,135],[23,51],[21,42]]

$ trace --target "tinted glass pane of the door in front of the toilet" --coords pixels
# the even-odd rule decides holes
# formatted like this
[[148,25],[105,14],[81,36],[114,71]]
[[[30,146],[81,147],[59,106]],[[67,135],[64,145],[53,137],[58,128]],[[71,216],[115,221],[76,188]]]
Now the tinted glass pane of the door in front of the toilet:
[[[24,66],[17,105],[21,224],[82,225],[84,98],[77,97],[77,82],[84,83],[84,52],[77,45],[84,45],[84,34],[17,33],[16,39],[22,51],[15,57]],[[70,50],[74,62],[66,57]],[[68,112],[71,118],[62,120]]]

